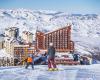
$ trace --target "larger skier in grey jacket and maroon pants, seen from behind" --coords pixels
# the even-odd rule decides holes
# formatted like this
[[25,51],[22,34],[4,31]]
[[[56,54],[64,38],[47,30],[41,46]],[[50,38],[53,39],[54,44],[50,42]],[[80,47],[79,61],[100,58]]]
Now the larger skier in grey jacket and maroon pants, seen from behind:
[[53,43],[50,43],[49,46],[50,47],[48,48],[48,70],[58,70],[55,64],[55,48],[53,46]]

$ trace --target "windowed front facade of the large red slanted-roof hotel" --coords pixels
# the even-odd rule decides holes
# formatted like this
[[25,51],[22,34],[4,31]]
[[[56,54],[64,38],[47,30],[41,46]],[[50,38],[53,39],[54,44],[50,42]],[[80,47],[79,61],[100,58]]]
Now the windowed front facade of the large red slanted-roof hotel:
[[46,35],[38,35],[38,48],[49,47],[49,43],[53,42],[56,49],[67,49],[70,47],[70,30],[69,28],[63,28]]

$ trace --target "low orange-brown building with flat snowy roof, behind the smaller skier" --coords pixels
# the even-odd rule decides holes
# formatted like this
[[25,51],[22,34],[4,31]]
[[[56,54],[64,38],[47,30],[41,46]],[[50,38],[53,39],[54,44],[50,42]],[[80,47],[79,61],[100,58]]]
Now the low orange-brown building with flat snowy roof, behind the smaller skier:
[[14,46],[14,57],[19,58],[20,60],[25,60],[28,54],[34,54],[34,46],[29,45],[15,45]]

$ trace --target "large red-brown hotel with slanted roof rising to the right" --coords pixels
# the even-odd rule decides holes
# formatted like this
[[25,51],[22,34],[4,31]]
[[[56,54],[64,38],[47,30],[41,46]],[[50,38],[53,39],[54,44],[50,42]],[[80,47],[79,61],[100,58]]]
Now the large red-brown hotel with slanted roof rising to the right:
[[71,40],[71,26],[48,33],[36,32],[36,49],[48,49],[51,42],[57,52],[74,51],[74,42]]

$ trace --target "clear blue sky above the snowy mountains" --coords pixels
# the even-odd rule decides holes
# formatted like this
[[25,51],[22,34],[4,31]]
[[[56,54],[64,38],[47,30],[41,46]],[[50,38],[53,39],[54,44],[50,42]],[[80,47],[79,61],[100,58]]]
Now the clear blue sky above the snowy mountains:
[[56,10],[68,13],[99,13],[100,0],[0,0],[0,8]]

